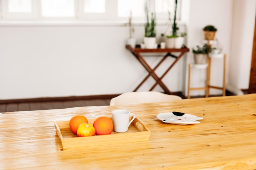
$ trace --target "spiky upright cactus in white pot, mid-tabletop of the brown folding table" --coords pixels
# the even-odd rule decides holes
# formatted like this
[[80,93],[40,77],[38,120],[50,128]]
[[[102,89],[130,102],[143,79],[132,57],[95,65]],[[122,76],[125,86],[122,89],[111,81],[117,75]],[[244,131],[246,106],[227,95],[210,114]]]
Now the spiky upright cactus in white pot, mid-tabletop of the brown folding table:
[[146,49],[154,49],[156,44],[155,13],[151,13],[151,18],[149,18],[147,7],[145,7],[145,11],[146,11],[146,23],[145,23],[144,44]]

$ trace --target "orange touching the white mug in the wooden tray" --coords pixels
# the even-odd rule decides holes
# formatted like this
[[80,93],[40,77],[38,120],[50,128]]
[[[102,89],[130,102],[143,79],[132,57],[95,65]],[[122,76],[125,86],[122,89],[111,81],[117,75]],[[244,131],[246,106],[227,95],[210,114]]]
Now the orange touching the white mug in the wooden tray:
[[113,131],[112,120],[105,116],[95,119],[93,127],[96,130],[96,135],[108,135]]

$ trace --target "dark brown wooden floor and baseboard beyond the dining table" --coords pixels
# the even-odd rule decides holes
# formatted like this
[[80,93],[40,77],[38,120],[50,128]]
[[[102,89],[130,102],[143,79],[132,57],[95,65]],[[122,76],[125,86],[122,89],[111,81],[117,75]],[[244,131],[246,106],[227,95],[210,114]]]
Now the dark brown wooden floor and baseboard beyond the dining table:
[[[181,93],[175,93],[185,99]],[[226,95],[234,95],[226,91]],[[81,106],[106,106],[110,105],[110,100],[117,95],[104,96],[88,96],[88,97],[62,97],[62,98],[41,98],[41,99],[21,99],[0,101],[0,113],[13,111],[28,111],[28,110],[47,110],[72,108]],[[200,98],[197,96],[191,98]]]

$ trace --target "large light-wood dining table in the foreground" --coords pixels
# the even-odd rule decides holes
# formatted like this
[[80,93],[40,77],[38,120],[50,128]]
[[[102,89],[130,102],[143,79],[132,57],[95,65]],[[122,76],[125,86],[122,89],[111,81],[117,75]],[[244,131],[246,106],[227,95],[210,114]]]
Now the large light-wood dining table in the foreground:
[[[127,109],[151,131],[150,140],[63,150],[54,121]],[[180,111],[200,124],[165,124],[158,113]],[[256,94],[123,106],[90,106],[0,114],[0,169],[255,170]],[[126,139],[129,140],[129,139]],[[102,141],[104,142],[104,141]]]

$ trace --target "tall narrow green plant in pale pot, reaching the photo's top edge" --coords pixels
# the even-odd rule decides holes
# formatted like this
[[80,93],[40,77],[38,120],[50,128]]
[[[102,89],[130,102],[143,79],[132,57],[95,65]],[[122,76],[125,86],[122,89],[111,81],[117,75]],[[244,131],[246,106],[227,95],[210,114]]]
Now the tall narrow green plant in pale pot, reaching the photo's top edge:
[[177,31],[179,30],[179,27],[176,23],[176,11],[177,11],[177,0],[175,0],[175,11],[174,11],[174,20],[173,20],[173,26],[172,26],[172,34],[166,35],[166,47],[168,49],[175,48],[175,38],[178,37]]

